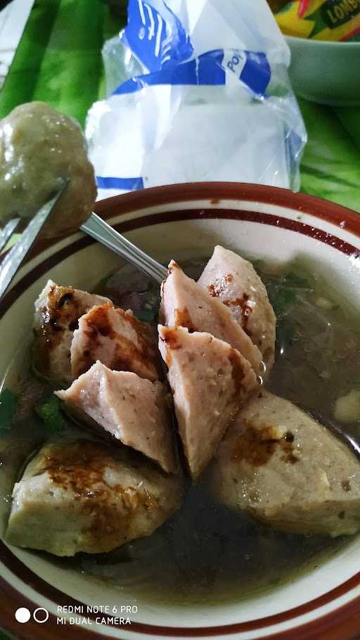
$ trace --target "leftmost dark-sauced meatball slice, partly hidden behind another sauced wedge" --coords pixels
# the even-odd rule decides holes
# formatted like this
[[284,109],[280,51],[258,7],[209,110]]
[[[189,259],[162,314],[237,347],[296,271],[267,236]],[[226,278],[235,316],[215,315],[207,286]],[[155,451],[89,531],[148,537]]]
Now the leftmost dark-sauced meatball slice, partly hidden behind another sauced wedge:
[[70,345],[79,317],[108,298],[51,280],[35,302],[34,366],[46,378],[72,380]]

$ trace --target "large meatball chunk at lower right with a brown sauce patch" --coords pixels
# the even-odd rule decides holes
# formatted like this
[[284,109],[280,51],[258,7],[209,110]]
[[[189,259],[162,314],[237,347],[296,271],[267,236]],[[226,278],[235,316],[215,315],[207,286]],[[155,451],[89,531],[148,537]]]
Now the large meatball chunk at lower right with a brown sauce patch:
[[332,537],[360,529],[360,463],[287,400],[262,392],[238,414],[210,470],[217,498],[279,530]]

